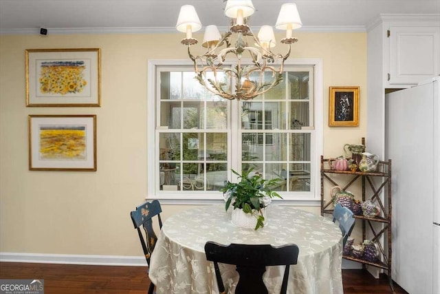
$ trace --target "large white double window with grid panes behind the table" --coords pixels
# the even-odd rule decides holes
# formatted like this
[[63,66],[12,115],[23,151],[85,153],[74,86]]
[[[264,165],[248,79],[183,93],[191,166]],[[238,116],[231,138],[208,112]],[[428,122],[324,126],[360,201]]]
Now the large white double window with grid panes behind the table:
[[149,195],[221,199],[225,181],[236,180],[231,169],[253,167],[283,180],[276,190],[285,200],[320,199],[320,61],[289,61],[283,81],[252,101],[212,95],[188,63],[151,61],[148,73]]

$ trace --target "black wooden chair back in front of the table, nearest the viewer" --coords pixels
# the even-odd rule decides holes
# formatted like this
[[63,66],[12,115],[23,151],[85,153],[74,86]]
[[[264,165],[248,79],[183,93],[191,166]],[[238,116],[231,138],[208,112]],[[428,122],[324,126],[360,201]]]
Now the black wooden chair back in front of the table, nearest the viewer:
[[298,246],[287,244],[273,247],[270,244],[230,244],[222,245],[216,242],[206,242],[206,259],[214,262],[214,271],[220,293],[225,293],[225,286],[221,279],[219,264],[234,264],[239,273],[239,282],[235,293],[267,294],[267,288],[263,282],[263,273],[266,266],[285,265],[281,294],[287,291],[290,264],[298,261]]

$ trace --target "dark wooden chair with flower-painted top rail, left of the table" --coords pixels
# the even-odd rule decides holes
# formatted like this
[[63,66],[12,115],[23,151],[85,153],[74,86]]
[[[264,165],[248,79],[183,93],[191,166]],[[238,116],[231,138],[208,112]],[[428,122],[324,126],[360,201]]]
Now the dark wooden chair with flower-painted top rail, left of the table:
[[[150,257],[153,253],[154,246],[157,241],[157,235],[153,229],[153,216],[157,216],[157,221],[159,222],[159,229],[162,229],[162,219],[160,218],[160,213],[162,208],[158,200],[153,200],[151,202],[145,202],[136,207],[135,211],[131,211],[130,216],[133,220],[135,229],[137,229],[137,234],[139,235],[140,244],[142,245],[142,250],[144,251],[146,263],[148,268],[150,266]],[[144,228],[144,233],[140,229],[141,226]],[[151,282],[148,288],[148,294],[153,294],[155,285]]]

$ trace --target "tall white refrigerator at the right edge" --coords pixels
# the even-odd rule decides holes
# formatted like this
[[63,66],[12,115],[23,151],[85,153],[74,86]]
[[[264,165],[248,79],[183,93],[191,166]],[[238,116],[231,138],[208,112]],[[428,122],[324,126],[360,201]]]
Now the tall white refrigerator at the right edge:
[[385,96],[392,160],[392,278],[412,294],[440,294],[439,77]]

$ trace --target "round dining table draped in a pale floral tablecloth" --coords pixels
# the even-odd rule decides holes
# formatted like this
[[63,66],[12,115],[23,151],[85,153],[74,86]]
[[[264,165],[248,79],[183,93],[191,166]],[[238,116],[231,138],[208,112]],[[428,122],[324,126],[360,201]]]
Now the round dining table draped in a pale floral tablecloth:
[[[299,247],[291,265],[287,293],[342,294],[342,233],[331,219],[280,204],[266,208],[263,228],[237,227],[231,206],[205,205],[180,211],[166,219],[151,254],[148,275],[156,293],[219,293],[212,262],[206,260],[207,241],[220,244],[271,244]],[[235,266],[219,264],[225,288],[234,293],[239,280]],[[263,281],[270,294],[280,293],[285,266],[267,266]]]

